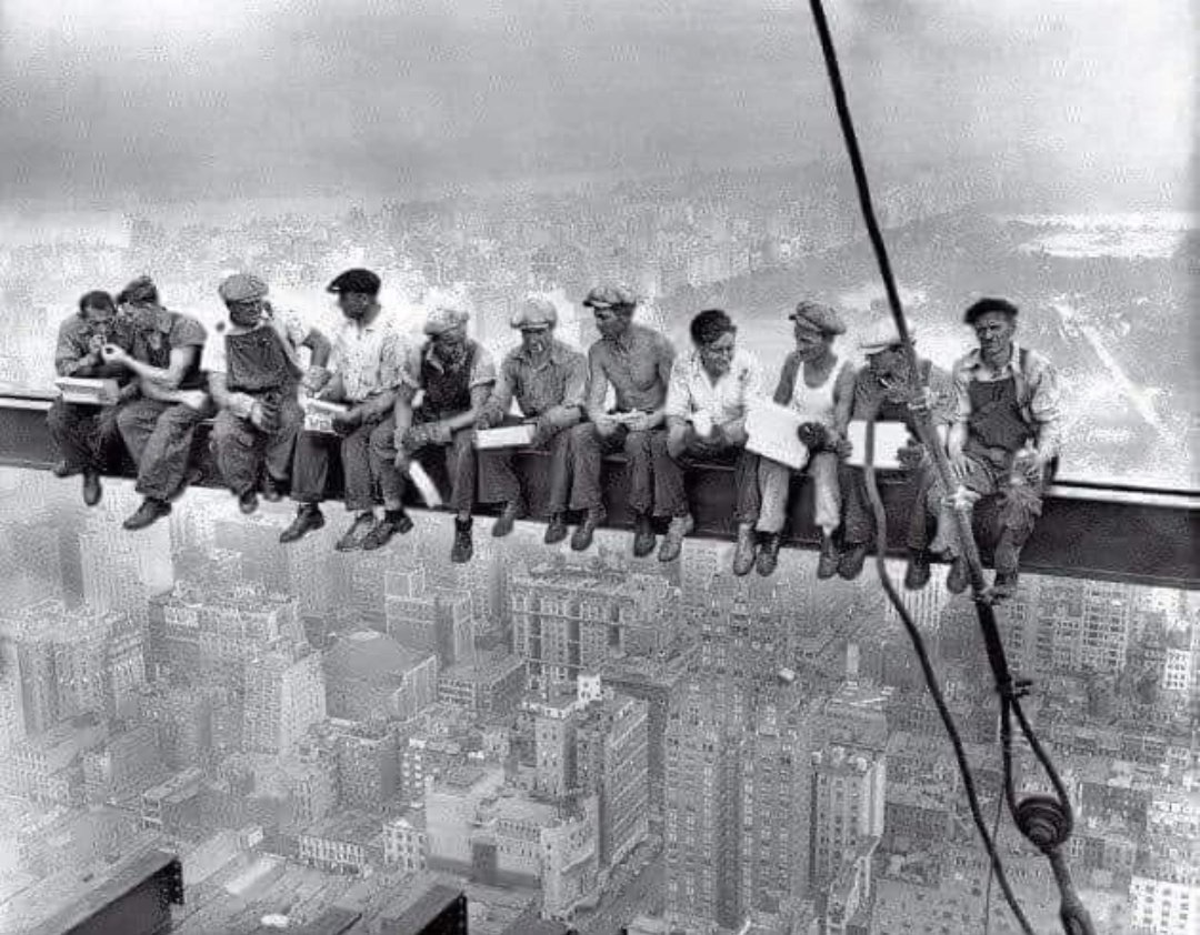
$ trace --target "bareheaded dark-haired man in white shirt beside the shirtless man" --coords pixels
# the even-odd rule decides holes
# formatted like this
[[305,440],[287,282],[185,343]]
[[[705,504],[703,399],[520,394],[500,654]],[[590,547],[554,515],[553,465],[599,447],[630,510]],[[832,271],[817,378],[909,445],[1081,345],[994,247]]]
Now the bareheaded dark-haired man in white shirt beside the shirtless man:
[[[746,414],[762,394],[762,369],[750,351],[737,346],[737,326],[725,312],[710,308],[691,321],[694,350],[677,360],[667,390],[667,453],[679,464],[664,473],[671,527],[659,557],[679,556],[684,530],[692,527],[683,468],[688,462],[732,464],[737,505],[738,544],[733,573],[749,574],[755,562],[754,526],[758,520],[758,458],[746,451]],[[683,521],[680,523],[680,518]]]

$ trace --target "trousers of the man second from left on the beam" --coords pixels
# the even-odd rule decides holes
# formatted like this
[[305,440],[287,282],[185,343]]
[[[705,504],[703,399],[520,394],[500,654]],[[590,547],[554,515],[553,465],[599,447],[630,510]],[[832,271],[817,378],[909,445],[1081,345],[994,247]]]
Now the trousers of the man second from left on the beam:
[[157,399],[142,398],[121,406],[116,426],[138,465],[134,489],[142,496],[169,500],[182,489],[196,427],[206,416],[206,411],[182,403]]

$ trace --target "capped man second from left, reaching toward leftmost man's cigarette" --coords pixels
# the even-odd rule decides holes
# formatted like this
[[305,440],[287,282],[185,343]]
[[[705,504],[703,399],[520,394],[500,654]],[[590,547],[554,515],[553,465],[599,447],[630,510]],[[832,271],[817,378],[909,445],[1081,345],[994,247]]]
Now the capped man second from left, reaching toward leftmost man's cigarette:
[[136,490],[143,496],[124,525],[138,530],[170,513],[170,501],[186,489],[196,428],[214,410],[200,370],[204,326],[163,308],[149,276],[125,286],[116,303],[131,324],[132,345],[128,351],[106,345],[101,356],[138,381],[138,397],[116,415],[121,438],[138,465]]

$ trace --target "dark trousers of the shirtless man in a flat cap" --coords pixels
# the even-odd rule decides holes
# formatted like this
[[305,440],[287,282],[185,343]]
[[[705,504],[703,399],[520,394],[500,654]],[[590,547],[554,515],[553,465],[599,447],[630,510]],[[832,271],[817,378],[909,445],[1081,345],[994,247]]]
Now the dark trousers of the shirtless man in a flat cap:
[[[601,459],[605,454],[625,454],[625,501],[635,513],[671,515],[656,502],[655,491],[665,493],[674,483],[671,475],[679,465],[667,454],[666,428],[630,432],[625,426],[607,439],[596,427],[583,422],[571,429],[571,509],[595,509],[604,503],[600,489]],[[682,484],[682,479],[677,483]]]

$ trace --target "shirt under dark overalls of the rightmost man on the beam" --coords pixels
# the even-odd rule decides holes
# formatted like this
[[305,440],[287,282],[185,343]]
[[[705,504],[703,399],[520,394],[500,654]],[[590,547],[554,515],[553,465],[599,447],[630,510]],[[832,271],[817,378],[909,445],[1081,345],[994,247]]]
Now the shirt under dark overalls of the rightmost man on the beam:
[[954,421],[964,424],[971,417],[972,382],[997,382],[1014,378],[1016,403],[1025,421],[1037,428],[1038,448],[1055,456],[1062,445],[1062,394],[1058,390],[1058,373],[1048,357],[1034,350],[1024,352],[1013,344],[1008,362],[992,370],[976,348],[954,364]]

